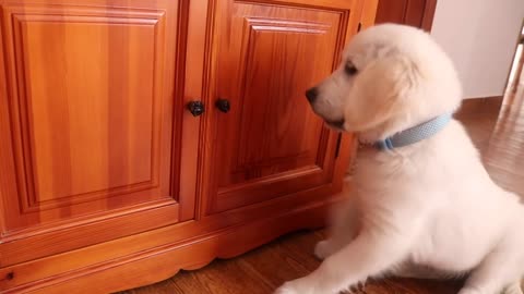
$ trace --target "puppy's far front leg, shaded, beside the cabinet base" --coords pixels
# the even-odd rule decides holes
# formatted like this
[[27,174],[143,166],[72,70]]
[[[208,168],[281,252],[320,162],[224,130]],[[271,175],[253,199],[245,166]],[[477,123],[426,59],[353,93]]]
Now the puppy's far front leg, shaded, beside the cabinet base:
[[349,244],[358,233],[359,212],[355,198],[346,198],[332,208],[329,238],[321,241],[314,248],[317,258],[323,260]]

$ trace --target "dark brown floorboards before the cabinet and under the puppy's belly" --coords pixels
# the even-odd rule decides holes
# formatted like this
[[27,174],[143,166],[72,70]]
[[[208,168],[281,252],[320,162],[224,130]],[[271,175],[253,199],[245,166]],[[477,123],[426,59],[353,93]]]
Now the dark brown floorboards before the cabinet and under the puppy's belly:
[[[270,294],[284,283],[313,271],[319,260],[312,255],[324,231],[300,232],[277,240],[231,260],[215,260],[198,271],[182,271],[153,285],[120,294],[153,293],[261,293]],[[381,279],[368,281],[358,294],[455,294],[461,281]]]

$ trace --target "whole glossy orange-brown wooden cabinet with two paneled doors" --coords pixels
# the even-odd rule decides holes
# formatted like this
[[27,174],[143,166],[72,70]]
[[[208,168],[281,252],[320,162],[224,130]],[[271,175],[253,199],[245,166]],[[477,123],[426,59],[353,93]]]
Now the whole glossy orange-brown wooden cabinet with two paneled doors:
[[0,293],[129,289],[322,225],[353,144],[303,91],[376,7],[0,0]]

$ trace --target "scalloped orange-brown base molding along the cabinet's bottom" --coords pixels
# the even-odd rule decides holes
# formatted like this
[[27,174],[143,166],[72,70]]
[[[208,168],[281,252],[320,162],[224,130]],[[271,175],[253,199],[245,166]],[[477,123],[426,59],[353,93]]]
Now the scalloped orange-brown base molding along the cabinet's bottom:
[[[279,216],[241,223],[14,287],[9,287],[10,281],[3,280],[0,281],[0,284],[3,283],[0,293],[110,293],[152,284],[168,279],[180,270],[204,267],[216,258],[239,256],[291,231],[321,228],[324,225],[329,207],[334,201],[335,199],[331,198]],[[138,241],[140,242],[140,237]],[[104,250],[104,244],[100,249]],[[67,260],[69,254],[62,254],[58,258],[55,256],[53,265],[61,265],[60,259]],[[25,262],[24,268],[31,267],[32,262],[34,261]],[[7,273],[2,270],[2,277],[9,275],[14,281],[17,278],[16,268],[17,266],[11,267]],[[24,280],[31,280],[31,277],[25,277]]]

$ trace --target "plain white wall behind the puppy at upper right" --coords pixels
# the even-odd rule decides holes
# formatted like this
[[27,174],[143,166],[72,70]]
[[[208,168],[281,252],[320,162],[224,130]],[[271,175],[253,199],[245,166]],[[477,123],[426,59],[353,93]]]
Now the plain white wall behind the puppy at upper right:
[[503,94],[524,0],[438,0],[431,35],[451,56],[464,98]]

